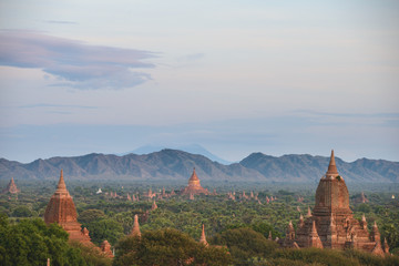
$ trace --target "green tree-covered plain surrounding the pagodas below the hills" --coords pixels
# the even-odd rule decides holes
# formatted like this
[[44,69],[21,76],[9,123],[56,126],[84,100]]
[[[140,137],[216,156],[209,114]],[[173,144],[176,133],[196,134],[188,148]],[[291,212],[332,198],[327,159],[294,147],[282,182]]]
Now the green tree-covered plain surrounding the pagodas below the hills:
[[[285,237],[289,221],[296,227],[299,215],[313,208],[317,184],[204,182],[216,195],[190,200],[178,195],[184,184],[176,181],[65,182],[78,221],[95,245],[110,242],[114,259],[68,242],[57,225],[45,226],[42,217],[57,181],[17,181],[18,196],[0,195],[1,265],[44,265],[48,257],[51,265],[399,265],[398,184],[348,184],[354,216],[361,219],[365,214],[369,229],[377,222],[381,239],[388,241],[393,256],[381,258],[354,249],[283,249],[268,239],[269,234],[273,239]],[[0,185],[6,187],[6,181]],[[143,195],[163,187],[177,195],[156,200],[152,211],[153,200]],[[249,198],[238,197],[244,191]],[[117,196],[111,197],[111,192]],[[229,192],[236,201],[228,200]],[[250,198],[252,192],[257,200]],[[367,203],[358,202],[361,192]],[[129,201],[127,193],[140,201]],[[276,200],[267,203],[266,197]],[[141,238],[129,236],[135,214]],[[198,243],[203,224],[208,247]]]

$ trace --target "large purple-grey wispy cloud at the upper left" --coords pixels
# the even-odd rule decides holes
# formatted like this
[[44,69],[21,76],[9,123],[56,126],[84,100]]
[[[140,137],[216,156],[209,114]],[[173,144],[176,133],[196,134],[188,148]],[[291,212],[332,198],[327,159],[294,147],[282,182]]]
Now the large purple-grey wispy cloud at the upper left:
[[41,69],[57,78],[55,86],[132,88],[151,80],[134,69],[155,66],[143,62],[155,57],[149,51],[89,45],[34,31],[1,31],[0,39],[0,65]]

